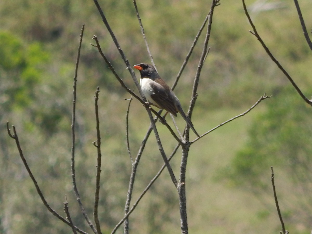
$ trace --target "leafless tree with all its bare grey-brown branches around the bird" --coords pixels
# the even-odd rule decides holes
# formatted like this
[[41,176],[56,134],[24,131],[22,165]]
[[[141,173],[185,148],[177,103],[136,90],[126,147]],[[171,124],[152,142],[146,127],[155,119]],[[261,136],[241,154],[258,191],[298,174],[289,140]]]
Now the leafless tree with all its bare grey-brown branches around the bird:
[[[101,49],[100,46],[100,41],[98,39],[97,36],[94,36],[93,39],[95,41],[95,44],[93,46],[95,46],[98,50],[98,52],[100,53],[100,55],[102,56],[103,60],[105,61],[105,63],[107,64],[107,66],[109,67],[109,69],[111,70],[112,74],[115,76],[116,80],[120,83],[121,87],[123,87],[130,95],[131,98],[129,99],[129,105],[128,105],[128,109],[127,109],[127,119],[126,119],[126,123],[127,123],[127,127],[126,127],[126,138],[127,138],[127,151],[129,154],[129,158],[131,160],[132,163],[132,169],[131,169],[131,175],[129,178],[129,187],[128,187],[128,192],[126,194],[126,201],[125,201],[125,206],[124,206],[124,217],[120,218],[120,221],[116,224],[115,228],[112,230],[111,233],[115,233],[117,231],[117,229],[123,224],[124,225],[124,233],[129,233],[129,219],[128,217],[131,215],[131,213],[134,211],[134,209],[138,206],[140,200],[142,199],[142,197],[146,194],[146,192],[149,190],[149,188],[152,186],[152,184],[158,179],[159,175],[163,172],[163,170],[166,168],[170,179],[172,180],[173,186],[175,186],[178,197],[179,197],[179,209],[180,209],[180,226],[181,226],[181,232],[182,233],[188,233],[188,221],[187,221],[187,207],[186,207],[186,179],[185,179],[185,175],[186,175],[186,165],[187,165],[187,160],[188,160],[188,154],[189,154],[189,150],[191,148],[191,146],[193,145],[193,143],[195,143],[198,140],[203,139],[205,136],[207,136],[207,134],[210,134],[212,131],[220,128],[221,126],[241,117],[246,115],[247,113],[249,113],[253,108],[256,107],[256,105],[258,105],[262,100],[269,98],[269,96],[267,96],[266,94],[264,94],[263,96],[261,96],[259,98],[259,100],[256,101],[256,103],[254,105],[252,105],[248,110],[246,110],[244,113],[241,113],[240,115],[237,115],[235,117],[232,117],[230,119],[228,119],[227,121],[217,125],[216,127],[214,127],[213,129],[207,130],[205,131],[205,133],[203,133],[202,135],[200,135],[200,137],[196,138],[196,139],[191,139],[189,138],[189,127],[186,125],[183,134],[181,135],[177,135],[175,134],[175,131],[173,129],[171,129],[171,127],[169,126],[169,124],[167,123],[165,117],[165,115],[162,115],[162,110],[156,112],[154,109],[152,109],[150,107],[150,105],[148,104],[146,98],[144,97],[140,85],[138,83],[138,80],[134,74],[134,71],[132,70],[132,66],[130,65],[128,59],[126,58],[123,49],[121,48],[121,46],[119,45],[119,42],[117,40],[117,38],[115,37],[114,32],[112,31],[109,22],[107,21],[106,17],[105,17],[105,13],[103,12],[102,8],[100,7],[100,4],[98,3],[97,0],[93,0],[95,3],[95,6],[102,18],[102,21],[107,29],[107,31],[110,34],[110,37],[113,39],[115,46],[117,48],[117,50],[119,51],[119,54],[121,56],[121,60],[124,61],[125,67],[128,69],[134,84],[136,85],[140,96],[136,95],[134,93],[133,90],[131,90],[129,87],[127,87],[127,85],[123,82],[123,80],[120,78],[120,76],[117,74],[117,72],[115,71],[114,67],[111,65],[110,61],[108,60],[108,58],[105,56],[105,52],[103,52],[103,50]],[[305,97],[305,95],[301,92],[301,90],[299,89],[299,87],[295,84],[295,81],[288,75],[288,73],[285,71],[285,69],[280,65],[280,63],[275,59],[275,57],[271,54],[271,52],[269,51],[269,49],[266,47],[266,45],[264,44],[264,42],[262,41],[261,37],[259,36],[256,27],[254,26],[254,24],[251,21],[251,18],[248,14],[246,5],[244,0],[242,0],[243,2],[243,8],[245,10],[246,16],[251,24],[251,27],[253,28],[253,32],[251,32],[253,35],[255,35],[257,37],[257,39],[260,41],[261,45],[263,46],[263,48],[266,50],[266,52],[268,53],[268,55],[271,57],[271,59],[276,63],[276,65],[279,67],[279,69],[285,74],[285,76],[290,80],[291,84],[295,87],[295,89],[297,90],[297,92],[299,93],[299,95],[302,97],[302,99],[308,103],[309,105],[312,106],[312,101],[307,99]],[[296,0],[294,0],[296,7],[297,7],[297,11],[298,11],[298,15],[300,18],[300,22],[302,25],[302,28],[304,30],[304,35],[305,38],[307,40],[307,43],[309,44],[311,50],[312,50],[312,45],[311,45],[311,41],[309,39],[309,36],[306,32],[305,29],[305,25],[304,25],[304,21],[302,18],[302,15],[300,13],[300,8],[299,8],[299,4]],[[143,23],[141,21],[141,18],[139,16],[139,10],[138,7],[136,5],[136,1],[133,1],[134,3],[134,9],[139,21],[139,27],[141,28],[141,32],[146,44],[146,50],[150,56],[151,59],[151,63],[153,65],[154,61],[153,61],[153,56],[149,50],[149,45],[147,42],[147,38],[144,32],[144,27],[143,27]],[[194,82],[193,82],[193,90],[192,90],[192,96],[190,99],[190,104],[189,104],[189,108],[188,108],[188,112],[187,115],[189,118],[192,117],[192,112],[193,109],[195,107],[196,104],[196,100],[197,100],[197,87],[198,87],[198,82],[201,76],[201,71],[202,71],[202,67],[203,64],[205,62],[206,57],[208,56],[209,53],[209,38],[211,35],[211,29],[212,29],[212,19],[213,19],[213,14],[214,14],[214,10],[215,8],[220,5],[220,0],[212,0],[211,3],[211,7],[209,9],[209,12],[207,12],[207,17],[204,19],[201,27],[198,30],[198,33],[196,35],[196,37],[194,38],[193,44],[190,46],[189,52],[185,58],[185,60],[183,61],[182,65],[181,65],[181,69],[177,74],[176,80],[172,86],[172,89],[174,90],[174,88],[176,87],[176,85],[178,84],[179,78],[181,76],[181,74],[184,71],[185,66],[188,63],[188,60],[193,52],[194,47],[197,45],[197,41],[199,39],[199,37],[202,34],[202,31],[204,29],[206,29],[206,33],[204,36],[204,43],[202,45],[202,53],[201,56],[199,58],[198,61],[198,66],[197,66],[197,71],[196,74],[194,76]],[[90,226],[92,232],[94,233],[102,233],[101,232],[101,225],[100,225],[100,219],[99,219],[99,215],[98,215],[98,205],[99,205],[99,200],[100,200],[100,196],[99,196],[99,191],[100,191],[100,174],[101,174],[101,135],[100,135],[100,120],[99,120],[99,114],[98,114],[98,100],[99,100],[99,93],[100,93],[100,89],[99,87],[96,89],[95,92],[95,119],[96,119],[96,141],[93,143],[94,146],[97,149],[97,171],[96,171],[96,186],[95,186],[95,202],[94,202],[94,207],[93,207],[93,220],[91,220],[90,217],[88,217],[87,213],[85,212],[84,209],[84,205],[83,202],[80,199],[80,195],[79,195],[79,189],[77,188],[76,185],[76,173],[75,173],[75,123],[76,123],[76,86],[77,86],[77,74],[78,74],[78,66],[79,66],[79,59],[80,59],[80,48],[81,48],[81,43],[82,43],[82,39],[83,39],[83,33],[84,33],[84,25],[81,29],[81,34],[80,34],[80,43],[79,43],[79,47],[78,47],[78,54],[77,54],[77,61],[76,61],[76,68],[75,68],[75,75],[74,75],[74,85],[73,85],[73,106],[72,106],[72,123],[71,123],[71,137],[72,137],[72,142],[71,142],[71,173],[72,173],[72,184],[73,184],[73,188],[74,188],[74,192],[77,198],[77,202],[80,206],[81,212],[83,214],[83,216],[85,217],[86,222],[88,223],[88,225]],[[128,114],[129,114],[129,109],[131,107],[131,101],[132,100],[136,100],[139,101],[144,108],[146,109],[147,115],[150,119],[150,126],[148,131],[146,132],[141,146],[138,150],[138,152],[136,153],[136,156],[133,157],[132,153],[131,153],[131,149],[129,146],[129,132],[128,132],[128,126],[129,124],[129,119],[128,119]],[[153,114],[155,116],[153,116]],[[172,149],[172,153],[170,155],[166,155],[164,150],[163,150],[163,145],[162,145],[162,141],[158,135],[158,131],[157,131],[157,120],[160,119],[161,123],[164,124],[167,128],[168,131],[170,132],[170,134],[173,136],[173,138],[177,141],[176,146]],[[136,172],[137,172],[137,167],[139,165],[140,162],[140,158],[141,155],[144,151],[145,148],[145,144],[147,142],[147,139],[150,137],[150,134],[152,133],[152,131],[154,132],[154,136],[156,138],[156,142],[158,144],[158,149],[159,149],[159,153],[163,158],[164,164],[161,168],[159,168],[158,173],[154,176],[154,178],[149,182],[149,184],[146,186],[146,188],[142,191],[141,195],[139,197],[136,198],[136,201],[133,203],[132,206],[130,206],[130,202],[132,200],[132,193],[133,193],[133,189],[134,189],[134,181],[136,178]],[[178,129],[177,129],[178,131]],[[168,133],[169,133],[168,132]],[[179,131],[178,131],[179,132]],[[56,216],[58,219],[60,219],[62,222],[64,222],[65,224],[67,224],[69,227],[71,227],[72,232],[73,233],[87,233],[83,230],[81,230],[80,228],[76,227],[75,224],[72,222],[71,220],[71,216],[70,216],[70,212],[69,212],[69,207],[68,207],[68,203],[67,201],[64,202],[64,210],[65,210],[65,214],[66,217],[62,217],[60,214],[58,214],[56,211],[54,211],[51,206],[46,202],[45,197],[43,196],[41,189],[39,187],[39,185],[36,182],[36,179],[34,178],[30,168],[28,167],[26,158],[24,157],[24,154],[22,152],[22,146],[19,143],[19,139],[17,136],[17,132],[16,129],[13,125],[13,133],[11,132],[11,130],[9,129],[9,124],[7,122],[7,133],[9,134],[9,136],[15,140],[16,142],[16,146],[17,149],[19,151],[19,155],[24,163],[25,168],[27,169],[27,172],[29,174],[29,176],[31,177],[36,189],[37,189],[37,193],[39,194],[43,204],[46,206],[46,208],[54,215]],[[182,154],[181,154],[181,163],[180,163],[180,171],[179,171],[179,176],[177,177],[171,166],[170,166],[170,160],[173,158],[174,155],[176,155],[178,148],[182,149]],[[274,187],[274,174],[273,174],[273,169],[272,169],[272,184],[273,184],[273,188],[274,188],[274,194],[275,193],[275,187]],[[275,201],[277,202],[277,197],[275,196]],[[277,207],[278,208],[278,207]],[[279,210],[279,208],[278,208]],[[281,216],[280,216],[281,219]],[[281,219],[282,221],[282,219]],[[94,224],[93,224],[94,223]],[[283,225],[283,232],[285,233],[285,227],[284,224]]]

